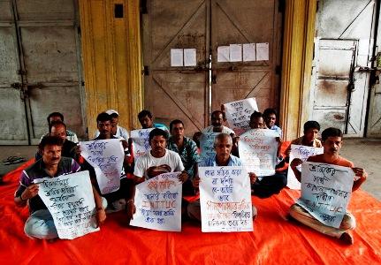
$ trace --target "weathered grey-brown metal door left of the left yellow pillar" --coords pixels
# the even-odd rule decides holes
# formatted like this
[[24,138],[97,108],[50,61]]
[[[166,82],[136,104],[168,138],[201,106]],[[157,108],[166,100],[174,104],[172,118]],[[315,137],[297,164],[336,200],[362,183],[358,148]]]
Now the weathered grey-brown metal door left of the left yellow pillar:
[[[53,111],[63,113],[68,127],[83,137],[76,2],[19,0],[7,4],[13,17],[11,24],[16,29],[17,42],[13,44],[19,47],[19,74],[13,83],[23,92],[19,105],[25,105],[26,117],[20,122],[27,125],[30,143],[38,143],[47,132],[46,117]],[[20,111],[16,106],[13,109]],[[5,144],[11,143],[3,133],[0,139]]]

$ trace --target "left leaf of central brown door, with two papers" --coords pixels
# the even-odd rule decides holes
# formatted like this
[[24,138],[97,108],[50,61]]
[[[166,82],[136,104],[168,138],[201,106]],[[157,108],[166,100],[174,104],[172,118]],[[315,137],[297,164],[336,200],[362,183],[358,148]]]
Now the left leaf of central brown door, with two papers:
[[[187,135],[205,126],[208,106],[208,1],[149,1],[143,16],[145,108],[157,122],[179,118]],[[196,49],[199,67],[171,67],[171,49]]]

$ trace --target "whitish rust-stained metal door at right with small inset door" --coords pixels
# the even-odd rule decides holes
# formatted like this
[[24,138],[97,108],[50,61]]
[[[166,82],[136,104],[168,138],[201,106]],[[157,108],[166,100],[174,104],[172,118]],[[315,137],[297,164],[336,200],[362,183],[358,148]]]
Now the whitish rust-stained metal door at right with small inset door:
[[311,118],[347,136],[365,130],[375,26],[374,0],[318,3]]

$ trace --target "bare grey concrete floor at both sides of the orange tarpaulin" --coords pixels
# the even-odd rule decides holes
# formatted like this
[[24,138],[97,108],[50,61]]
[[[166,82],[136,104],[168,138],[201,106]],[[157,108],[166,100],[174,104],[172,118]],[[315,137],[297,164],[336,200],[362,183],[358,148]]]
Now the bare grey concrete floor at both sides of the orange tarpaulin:
[[[29,159],[34,157],[36,149],[35,146],[0,146],[0,176],[21,164],[4,165],[4,159],[11,155]],[[381,139],[345,139],[341,155],[368,172],[369,177],[362,189],[381,201]]]

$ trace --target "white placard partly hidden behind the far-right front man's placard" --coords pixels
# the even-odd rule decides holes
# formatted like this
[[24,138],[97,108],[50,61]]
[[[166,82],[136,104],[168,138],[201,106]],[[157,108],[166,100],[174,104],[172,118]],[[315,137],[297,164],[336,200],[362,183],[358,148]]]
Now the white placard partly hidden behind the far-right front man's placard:
[[[309,156],[311,155],[323,154],[323,149],[324,148],[291,145],[290,163],[293,161],[294,158],[300,158],[302,162],[305,162],[307,161],[307,158],[309,158]],[[296,179],[295,174],[293,173],[293,170],[291,169],[291,167],[288,167],[287,186],[290,189],[294,189],[294,190],[301,189],[301,183],[298,181],[298,179]]]

